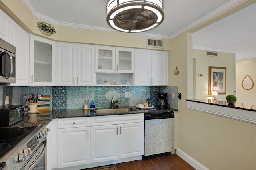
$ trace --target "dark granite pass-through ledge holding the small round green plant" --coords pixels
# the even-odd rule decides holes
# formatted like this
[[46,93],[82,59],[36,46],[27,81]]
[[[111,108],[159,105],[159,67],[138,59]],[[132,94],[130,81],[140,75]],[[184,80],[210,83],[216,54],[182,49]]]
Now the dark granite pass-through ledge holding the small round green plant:
[[248,111],[255,111],[256,112],[256,105],[246,104],[246,103],[235,103],[234,105],[228,104],[226,101],[218,101],[212,99],[187,99],[187,101],[198,102],[198,103],[205,103],[209,105],[218,105],[223,107],[230,107],[235,109],[243,109]]

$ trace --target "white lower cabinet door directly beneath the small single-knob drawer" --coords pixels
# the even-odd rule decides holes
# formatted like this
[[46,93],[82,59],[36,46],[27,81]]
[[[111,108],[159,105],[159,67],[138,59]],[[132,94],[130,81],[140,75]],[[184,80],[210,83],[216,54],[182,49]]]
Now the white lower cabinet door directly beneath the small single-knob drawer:
[[58,129],[58,168],[90,163],[90,127]]

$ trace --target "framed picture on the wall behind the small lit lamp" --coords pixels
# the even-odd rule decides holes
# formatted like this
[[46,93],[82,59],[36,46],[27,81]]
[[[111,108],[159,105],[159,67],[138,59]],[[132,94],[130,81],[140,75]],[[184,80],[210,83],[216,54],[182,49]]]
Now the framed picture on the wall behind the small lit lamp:
[[226,70],[226,67],[209,66],[209,95],[212,94],[212,91],[226,94]]

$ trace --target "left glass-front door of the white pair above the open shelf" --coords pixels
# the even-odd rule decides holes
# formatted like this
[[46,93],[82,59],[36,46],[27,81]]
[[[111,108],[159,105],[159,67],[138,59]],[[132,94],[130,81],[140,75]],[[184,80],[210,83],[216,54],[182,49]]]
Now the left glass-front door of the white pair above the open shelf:
[[96,73],[115,73],[116,48],[114,47],[95,47],[95,72]]

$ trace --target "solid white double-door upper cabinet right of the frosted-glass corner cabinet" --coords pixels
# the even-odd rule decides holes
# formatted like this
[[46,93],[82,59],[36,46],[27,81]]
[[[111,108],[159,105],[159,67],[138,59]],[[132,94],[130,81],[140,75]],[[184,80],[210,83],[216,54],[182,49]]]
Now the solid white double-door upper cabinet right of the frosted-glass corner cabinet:
[[56,43],[56,85],[95,85],[94,57],[93,45]]

